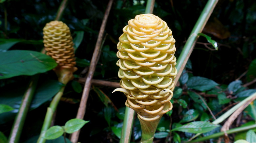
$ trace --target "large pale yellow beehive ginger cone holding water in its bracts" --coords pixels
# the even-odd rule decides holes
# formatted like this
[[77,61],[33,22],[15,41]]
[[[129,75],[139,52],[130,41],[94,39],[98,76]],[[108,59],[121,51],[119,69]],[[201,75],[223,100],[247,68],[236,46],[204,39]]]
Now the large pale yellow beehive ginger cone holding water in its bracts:
[[137,15],[123,28],[117,44],[117,66],[126,106],[145,121],[159,120],[172,109],[175,40],[167,24],[153,14]]

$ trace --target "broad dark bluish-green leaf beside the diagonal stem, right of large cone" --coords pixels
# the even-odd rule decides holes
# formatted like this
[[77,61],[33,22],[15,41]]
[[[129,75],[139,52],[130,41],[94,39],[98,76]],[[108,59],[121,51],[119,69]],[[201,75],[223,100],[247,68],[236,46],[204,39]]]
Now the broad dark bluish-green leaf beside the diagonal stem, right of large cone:
[[210,90],[218,85],[215,81],[200,76],[193,76],[187,81],[187,87],[199,91]]

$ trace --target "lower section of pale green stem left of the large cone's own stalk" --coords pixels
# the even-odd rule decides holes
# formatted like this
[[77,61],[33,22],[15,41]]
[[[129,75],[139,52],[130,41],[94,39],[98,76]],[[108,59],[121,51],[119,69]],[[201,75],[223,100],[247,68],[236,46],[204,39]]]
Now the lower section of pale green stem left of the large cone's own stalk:
[[133,118],[135,111],[129,107],[125,107],[125,115],[124,115],[124,121],[123,121],[123,128],[122,128],[122,134],[120,143],[129,143],[130,138],[132,135],[132,126],[133,126]]

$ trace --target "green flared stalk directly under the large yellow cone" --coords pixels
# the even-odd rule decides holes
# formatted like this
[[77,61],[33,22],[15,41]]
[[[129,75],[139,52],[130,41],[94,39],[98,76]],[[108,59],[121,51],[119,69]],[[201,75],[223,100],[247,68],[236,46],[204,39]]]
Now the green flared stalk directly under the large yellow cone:
[[[139,116],[138,116],[139,118]],[[156,120],[143,120],[139,118],[142,134],[141,134],[141,140],[140,143],[152,143],[155,132],[157,130],[158,123],[160,121],[160,118],[157,118]]]

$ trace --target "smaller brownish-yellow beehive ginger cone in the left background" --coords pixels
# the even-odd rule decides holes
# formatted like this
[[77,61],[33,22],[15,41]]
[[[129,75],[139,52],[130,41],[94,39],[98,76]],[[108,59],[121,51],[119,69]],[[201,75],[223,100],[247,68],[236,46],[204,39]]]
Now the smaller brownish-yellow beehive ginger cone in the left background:
[[54,69],[59,81],[67,84],[72,80],[75,67],[75,54],[73,38],[69,27],[61,21],[52,21],[43,28],[43,42],[47,55],[58,63]]

